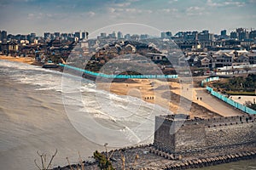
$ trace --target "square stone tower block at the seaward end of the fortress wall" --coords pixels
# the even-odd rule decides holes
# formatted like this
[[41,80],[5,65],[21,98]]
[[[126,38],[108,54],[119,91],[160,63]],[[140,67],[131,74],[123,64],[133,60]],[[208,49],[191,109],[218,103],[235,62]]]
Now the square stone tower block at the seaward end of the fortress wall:
[[205,123],[186,115],[156,116],[154,146],[174,155],[198,152],[206,148]]

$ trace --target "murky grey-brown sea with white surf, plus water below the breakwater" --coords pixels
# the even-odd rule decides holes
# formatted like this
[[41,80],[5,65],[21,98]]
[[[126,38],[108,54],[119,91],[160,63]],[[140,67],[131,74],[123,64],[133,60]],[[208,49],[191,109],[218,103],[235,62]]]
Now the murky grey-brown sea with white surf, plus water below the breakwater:
[[[165,108],[110,94],[79,76],[0,59],[0,169],[37,169],[57,150],[52,167],[90,160],[96,150],[149,144],[154,116]],[[237,161],[203,169],[256,169]]]

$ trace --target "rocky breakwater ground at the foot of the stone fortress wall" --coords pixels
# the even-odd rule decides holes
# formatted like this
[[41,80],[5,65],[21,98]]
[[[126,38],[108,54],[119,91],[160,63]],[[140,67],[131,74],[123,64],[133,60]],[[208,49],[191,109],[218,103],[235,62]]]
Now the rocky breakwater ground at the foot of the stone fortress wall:
[[[107,156],[107,152],[102,152]],[[238,151],[236,154],[207,155],[207,156],[174,156],[163,150],[158,150],[153,144],[142,144],[108,151],[108,156],[115,169],[122,169],[121,155],[125,157],[125,169],[136,170],[159,170],[159,169],[189,169],[209,167],[232,161],[241,161],[256,158],[256,150]],[[86,170],[99,169],[97,162],[83,161]],[[73,170],[81,169],[79,164],[71,165]],[[54,170],[70,170],[70,166],[55,167]]]

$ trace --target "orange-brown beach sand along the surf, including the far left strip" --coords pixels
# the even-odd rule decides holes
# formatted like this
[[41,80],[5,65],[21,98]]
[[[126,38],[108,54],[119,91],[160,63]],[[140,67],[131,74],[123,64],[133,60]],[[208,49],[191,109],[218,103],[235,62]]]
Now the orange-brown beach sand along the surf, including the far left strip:
[[[0,55],[0,59],[22,62],[29,65],[39,65],[35,59],[31,57],[17,58]],[[183,93],[188,95],[184,99],[190,99],[186,101],[188,105],[184,105],[184,103],[181,102],[179,95],[181,94],[182,89],[178,82],[165,82],[154,79],[129,79],[125,82],[96,82],[96,87],[113,94],[137,97],[147,101],[148,103],[160,105],[175,114],[189,114],[191,118],[195,116],[202,118],[212,118],[219,116],[218,113],[209,110],[206,107],[207,105],[201,106],[194,102],[191,103],[191,100],[195,98],[195,96],[192,97],[194,94],[191,92]]]

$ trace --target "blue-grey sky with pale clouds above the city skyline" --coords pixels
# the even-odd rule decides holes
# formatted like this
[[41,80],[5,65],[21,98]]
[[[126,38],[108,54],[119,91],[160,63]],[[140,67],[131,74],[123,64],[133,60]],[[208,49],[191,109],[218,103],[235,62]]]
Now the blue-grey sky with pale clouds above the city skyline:
[[255,8],[256,0],[0,0],[0,30],[43,36],[138,23],[172,34],[219,34],[237,27],[256,29]]

